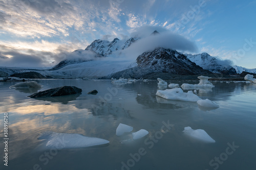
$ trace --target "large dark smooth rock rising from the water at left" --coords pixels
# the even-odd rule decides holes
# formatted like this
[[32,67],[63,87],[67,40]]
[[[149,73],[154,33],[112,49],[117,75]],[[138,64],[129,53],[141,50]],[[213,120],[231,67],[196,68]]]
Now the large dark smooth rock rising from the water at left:
[[30,98],[41,98],[41,97],[53,97],[53,96],[61,96],[61,95],[69,95],[80,93],[82,89],[77,88],[75,86],[62,86],[57,88],[51,88],[45,91],[39,91],[32,95],[29,95]]

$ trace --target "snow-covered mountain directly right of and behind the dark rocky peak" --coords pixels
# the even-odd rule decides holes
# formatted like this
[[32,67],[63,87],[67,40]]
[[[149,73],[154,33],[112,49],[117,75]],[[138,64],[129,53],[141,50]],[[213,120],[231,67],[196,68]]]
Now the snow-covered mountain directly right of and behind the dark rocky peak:
[[222,61],[216,57],[212,57],[207,53],[202,54],[184,54],[190,61],[196,63],[203,69],[209,70],[211,72],[217,74],[226,74],[232,75],[236,74],[236,69],[234,69],[230,64],[226,61]]

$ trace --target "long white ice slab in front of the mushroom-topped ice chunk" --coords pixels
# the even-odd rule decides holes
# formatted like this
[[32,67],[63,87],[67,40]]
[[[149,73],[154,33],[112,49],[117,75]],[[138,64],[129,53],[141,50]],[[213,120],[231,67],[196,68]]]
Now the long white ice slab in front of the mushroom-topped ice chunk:
[[193,91],[183,92],[181,88],[173,88],[166,90],[157,90],[156,95],[168,99],[168,100],[178,100],[178,101],[188,101],[197,102],[201,98],[193,93]]

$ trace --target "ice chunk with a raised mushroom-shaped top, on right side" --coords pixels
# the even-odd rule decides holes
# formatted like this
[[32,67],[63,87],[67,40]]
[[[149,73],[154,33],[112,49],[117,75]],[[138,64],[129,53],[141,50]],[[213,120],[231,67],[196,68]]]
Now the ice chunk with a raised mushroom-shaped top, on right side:
[[212,88],[215,87],[211,82],[208,81],[211,77],[199,76],[200,82],[198,84],[187,84],[184,83],[181,85],[181,88],[184,90],[199,90],[200,93],[207,93],[212,91]]

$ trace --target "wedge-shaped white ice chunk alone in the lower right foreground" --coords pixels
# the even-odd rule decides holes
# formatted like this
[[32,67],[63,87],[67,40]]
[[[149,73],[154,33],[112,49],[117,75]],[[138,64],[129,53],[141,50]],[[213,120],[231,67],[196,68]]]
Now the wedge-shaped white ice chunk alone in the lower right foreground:
[[212,139],[204,130],[202,129],[191,129],[190,127],[185,127],[183,131],[186,135],[193,137],[204,142],[215,143],[215,140]]

